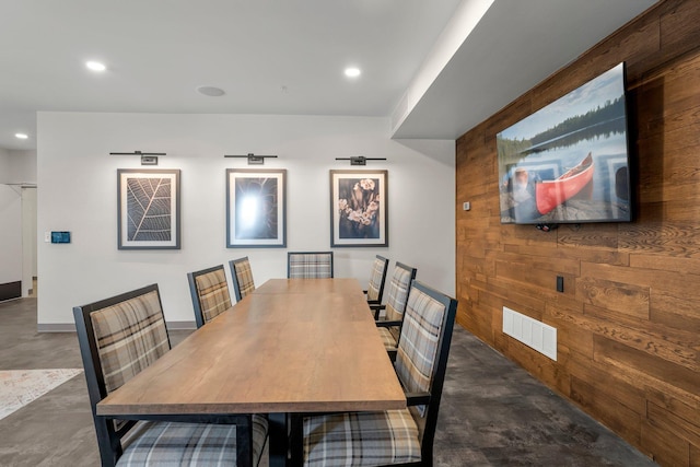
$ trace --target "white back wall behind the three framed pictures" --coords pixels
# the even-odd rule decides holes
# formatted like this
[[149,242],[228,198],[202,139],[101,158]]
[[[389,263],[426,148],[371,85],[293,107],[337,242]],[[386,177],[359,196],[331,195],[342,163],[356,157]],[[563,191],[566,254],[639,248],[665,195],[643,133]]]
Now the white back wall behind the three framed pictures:
[[[374,255],[416,266],[418,278],[454,294],[454,141],[393,141],[387,118],[241,115],[38,114],[39,329],[73,323],[71,308],[158,282],[168,322],[192,322],[186,272],[250,258],[256,284],[287,276],[287,252],[329,249],[335,157],[387,157],[388,248],[336,248],[336,277],[369,279]],[[118,250],[117,168],[166,152],[159,168],[182,170],[182,249]],[[264,168],[287,168],[287,249],[225,248],[224,154],[277,154]],[[362,167],[360,167],[362,168]],[[72,232],[72,243],[42,242]],[[66,326],[67,327],[67,326]]]

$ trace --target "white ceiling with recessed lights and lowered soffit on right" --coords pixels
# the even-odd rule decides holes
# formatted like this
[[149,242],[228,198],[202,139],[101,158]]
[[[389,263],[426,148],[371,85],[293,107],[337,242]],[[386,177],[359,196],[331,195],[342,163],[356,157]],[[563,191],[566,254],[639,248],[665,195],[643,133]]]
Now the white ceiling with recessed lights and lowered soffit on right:
[[[37,110],[389,117],[485,1],[0,0],[0,148]],[[394,137],[457,138],[655,1],[495,0]]]

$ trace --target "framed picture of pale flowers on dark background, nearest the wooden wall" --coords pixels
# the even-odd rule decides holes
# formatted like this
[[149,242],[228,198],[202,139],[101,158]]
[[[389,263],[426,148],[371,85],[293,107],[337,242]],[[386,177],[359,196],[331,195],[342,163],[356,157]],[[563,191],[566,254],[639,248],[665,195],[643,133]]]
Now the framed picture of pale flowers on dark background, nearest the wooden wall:
[[330,246],[388,246],[387,171],[330,171]]

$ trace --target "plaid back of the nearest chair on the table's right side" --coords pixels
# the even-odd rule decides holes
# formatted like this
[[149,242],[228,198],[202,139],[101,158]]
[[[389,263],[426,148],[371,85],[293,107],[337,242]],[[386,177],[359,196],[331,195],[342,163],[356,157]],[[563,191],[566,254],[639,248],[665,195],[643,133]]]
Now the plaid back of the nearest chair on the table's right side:
[[[413,280],[396,354],[396,373],[407,394],[424,394],[425,405],[411,407],[421,428],[421,458],[432,459],[438,409],[445,381],[457,301]],[[410,405],[410,397],[409,397]],[[422,401],[422,400],[421,400]]]

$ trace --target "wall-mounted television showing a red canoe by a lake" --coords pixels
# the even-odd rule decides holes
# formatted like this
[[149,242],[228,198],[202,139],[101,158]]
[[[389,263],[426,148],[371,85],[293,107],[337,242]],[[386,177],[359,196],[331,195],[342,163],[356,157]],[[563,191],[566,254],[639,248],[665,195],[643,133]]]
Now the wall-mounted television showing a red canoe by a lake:
[[501,222],[632,220],[625,62],[497,135]]

